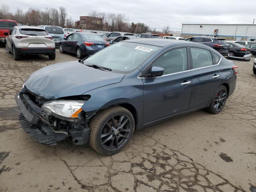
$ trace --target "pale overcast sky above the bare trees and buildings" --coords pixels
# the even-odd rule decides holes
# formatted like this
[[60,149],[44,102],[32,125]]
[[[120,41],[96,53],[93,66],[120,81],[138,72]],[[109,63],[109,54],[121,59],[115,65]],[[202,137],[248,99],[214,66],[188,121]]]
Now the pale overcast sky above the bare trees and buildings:
[[15,12],[18,5],[26,11],[34,8],[64,6],[68,14],[79,20],[96,10],[106,13],[125,13],[129,22],[143,22],[162,30],[169,25],[180,30],[181,24],[252,24],[256,19],[255,0],[10,0],[4,1]]

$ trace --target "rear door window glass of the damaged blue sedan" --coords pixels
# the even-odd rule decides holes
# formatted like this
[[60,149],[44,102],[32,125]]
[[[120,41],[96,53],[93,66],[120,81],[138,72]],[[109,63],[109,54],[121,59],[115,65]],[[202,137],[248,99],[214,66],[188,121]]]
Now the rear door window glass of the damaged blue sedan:
[[210,51],[201,48],[191,48],[193,68],[201,68],[213,65]]

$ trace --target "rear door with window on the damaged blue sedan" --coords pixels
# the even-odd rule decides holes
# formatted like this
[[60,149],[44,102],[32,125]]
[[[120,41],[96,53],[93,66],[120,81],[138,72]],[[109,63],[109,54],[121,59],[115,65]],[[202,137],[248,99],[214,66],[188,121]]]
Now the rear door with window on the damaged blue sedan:
[[[189,110],[207,105],[218,88],[221,71],[218,64],[220,56],[206,48],[190,47],[192,60],[193,87]],[[218,58],[219,59],[215,59]]]

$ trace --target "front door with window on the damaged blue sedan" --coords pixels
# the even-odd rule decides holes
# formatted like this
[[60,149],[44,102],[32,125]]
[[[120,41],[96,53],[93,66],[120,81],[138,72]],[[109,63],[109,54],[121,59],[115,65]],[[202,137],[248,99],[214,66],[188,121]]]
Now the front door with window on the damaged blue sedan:
[[162,54],[152,66],[164,68],[164,75],[143,78],[143,124],[188,110],[192,91],[192,73],[189,70],[186,47]]

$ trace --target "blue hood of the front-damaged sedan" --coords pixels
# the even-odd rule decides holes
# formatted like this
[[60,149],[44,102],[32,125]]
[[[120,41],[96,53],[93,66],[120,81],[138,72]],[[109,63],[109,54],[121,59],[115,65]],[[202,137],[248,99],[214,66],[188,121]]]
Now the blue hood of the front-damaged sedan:
[[78,61],[44,67],[25,82],[26,88],[46,99],[82,95],[90,90],[118,83],[125,74],[102,71]]

